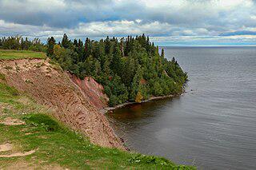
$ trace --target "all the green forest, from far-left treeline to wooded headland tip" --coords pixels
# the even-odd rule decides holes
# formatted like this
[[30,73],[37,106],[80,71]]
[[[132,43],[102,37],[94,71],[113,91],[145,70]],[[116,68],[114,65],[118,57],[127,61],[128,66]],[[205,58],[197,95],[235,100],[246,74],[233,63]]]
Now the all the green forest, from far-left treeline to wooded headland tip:
[[83,79],[94,77],[104,86],[109,105],[127,101],[141,102],[150,97],[182,93],[187,75],[175,61],[168,61],[164,50],[144,34],[99,41],[86,38],[71,41],[66,34],[61,42],[48,38],[44,45],[38,38],[0,39],[0,49],[26,49],[46,52],[62,69]]

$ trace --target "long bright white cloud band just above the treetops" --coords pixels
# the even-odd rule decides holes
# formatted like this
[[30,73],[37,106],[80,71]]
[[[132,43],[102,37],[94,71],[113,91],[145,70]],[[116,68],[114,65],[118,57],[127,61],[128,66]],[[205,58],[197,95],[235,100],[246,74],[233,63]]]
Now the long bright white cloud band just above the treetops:
[[71,37],[101,37],[106,35],[114,36],[143,33],[162,34],[170,31],[170,25],[160,22],[140,24],[136,21],[122,20],[114,22],[81,22],[75,28],[59,30],[50,26],[27,26],[0,20],[0,31],[2,33],[6,32],[25,36],[31,35],[35,37],[48,37],[51,35],[62,37],[64,33],[69,34]]

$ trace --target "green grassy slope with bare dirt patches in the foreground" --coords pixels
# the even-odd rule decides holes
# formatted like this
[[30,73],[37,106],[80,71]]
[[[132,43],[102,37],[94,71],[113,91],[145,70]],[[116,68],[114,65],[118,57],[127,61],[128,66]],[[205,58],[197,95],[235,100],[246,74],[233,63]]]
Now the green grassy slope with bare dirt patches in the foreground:
[[50,164],[70,169],[194,169],[189,166],[178,166],[157,156],[145,156],[91,144],[86,136],[71,131],[48,116],[47,109],[42,105],[36,104],[29,97],[2,83],[1,105],[5,108],[0,110],[0,121],[5,117],[14,117],[25,121],[26,124],[0,124],[0,144],[8,141],[15,146],[16,152],[34,149],[36,152],[29,156],[0,158],[0,168],[26,163],[37,165],[37,168],[44,168]]

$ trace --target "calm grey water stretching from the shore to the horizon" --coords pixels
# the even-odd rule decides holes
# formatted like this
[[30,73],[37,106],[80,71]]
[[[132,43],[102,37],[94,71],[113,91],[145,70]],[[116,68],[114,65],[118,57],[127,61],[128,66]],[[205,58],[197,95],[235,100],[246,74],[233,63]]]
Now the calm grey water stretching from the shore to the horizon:
[[189,75],[181,97],[109,113],[135,151],[199,169],[256,169],[256,47],[168,47]]

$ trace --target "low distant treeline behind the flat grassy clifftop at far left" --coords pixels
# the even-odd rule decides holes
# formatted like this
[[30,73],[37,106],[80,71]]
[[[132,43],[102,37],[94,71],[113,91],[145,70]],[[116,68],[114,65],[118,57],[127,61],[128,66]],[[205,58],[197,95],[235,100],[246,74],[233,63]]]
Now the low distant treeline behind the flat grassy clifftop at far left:
[[16,49],[16,50],[33,50],[38,52],[46,52],[44,45],[38,38],[30,41],[28,38],[21,36],[0,38],[0,49]]

